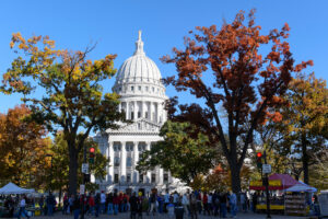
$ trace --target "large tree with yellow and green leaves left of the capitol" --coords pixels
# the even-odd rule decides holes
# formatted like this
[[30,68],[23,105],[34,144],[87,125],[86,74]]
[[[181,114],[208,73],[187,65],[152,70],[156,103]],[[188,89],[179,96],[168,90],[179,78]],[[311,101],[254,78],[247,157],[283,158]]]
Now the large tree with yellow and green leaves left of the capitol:
[[75,53],[56,50],[48,36],[26,41],[20,33],[12,36],[10,46],[15,45],[19,56],[3,74],[1,90],[23,94],[34,120],[49,130],[62,129],[70,157],[69,193],[75,194],[78,157],[90,132],[117,128],[116,122],[124,119],[118,95],[103,94],[101,85],[115,74],[116,56],[91,61],[86,57],[94,46]]

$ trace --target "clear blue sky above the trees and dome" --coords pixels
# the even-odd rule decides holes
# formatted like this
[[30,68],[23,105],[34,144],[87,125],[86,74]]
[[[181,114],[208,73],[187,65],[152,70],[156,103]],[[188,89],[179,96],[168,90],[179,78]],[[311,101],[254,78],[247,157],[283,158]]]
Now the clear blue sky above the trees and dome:
[[[162,76],[175,72],[174,66],[159,58],[181,47],[183,37],[195,26],[221,25],[231,22],[239,10],[255,8],[256,23],[263,33],[280,28],[286,22],[291,27],[291,50],[296,61],[313,59],[317,78],[328,79],[328,1],[316,0],[57,0],[0,2],[0,74],[10,67],[14,54],[9,48],[11,34],[23,36],[49,35],[58,48],[83,49],[97,42],[92,59],[117,54],[116,68],[134,50],[138,30],[142,30],[144,50],[159,66]],[[105,83],[110,91],[114,80]],[[177,95],[168,88],[168,96]],[[20,104],[17,95],[0,94],[0,113]],[[188,100],[183,100],[187,102]]]

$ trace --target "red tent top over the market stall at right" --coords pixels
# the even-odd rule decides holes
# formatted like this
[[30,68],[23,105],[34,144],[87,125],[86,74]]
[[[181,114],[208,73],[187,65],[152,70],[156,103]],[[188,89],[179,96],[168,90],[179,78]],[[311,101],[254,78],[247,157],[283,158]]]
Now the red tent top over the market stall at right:
[[[270,182],[278,181],[279,184],[277,185],[271,185]],[[272,175],[269,176],[269,189],[270,191],[282,191],[285,188],[289,188],[295,184],[300,184],[296,180],[294,180],[292,176],[289,174],[279,174],[279,173],[273,173]],[[265,186],[261,185],[250,185],[249,189],[255,189],[255,191],[263,191],[266,189]]]

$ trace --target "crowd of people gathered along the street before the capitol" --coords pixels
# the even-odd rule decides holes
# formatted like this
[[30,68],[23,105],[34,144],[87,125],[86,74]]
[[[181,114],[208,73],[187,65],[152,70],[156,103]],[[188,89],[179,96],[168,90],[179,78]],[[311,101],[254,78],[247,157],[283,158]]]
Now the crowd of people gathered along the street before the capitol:
[[[249,209],[246,194],[241,194],[243,211]],[[128,195],[125,193],[104,192],[89,195],[72,195],[63,197],[62,214],[72,214],[75,219],[81,214],[98,217],[101,214],[118,215],[130,211],[131,219],[143,215],[167,214],[169,218],[197,219],[199,215],[226,218],[227,214],[235,218],[237,214],[237,196],[234,193],[206,193],[200,191],[159,194],[156,189],[143,194],[141,192]]]

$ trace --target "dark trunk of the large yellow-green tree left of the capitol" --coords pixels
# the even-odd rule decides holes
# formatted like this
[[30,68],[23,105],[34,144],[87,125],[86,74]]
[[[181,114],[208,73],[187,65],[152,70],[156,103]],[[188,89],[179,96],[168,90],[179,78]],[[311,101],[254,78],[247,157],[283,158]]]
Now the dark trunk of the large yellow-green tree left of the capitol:
[[75,195],[78,188],[78,151],[73,146],[69,145],[69,195]]

